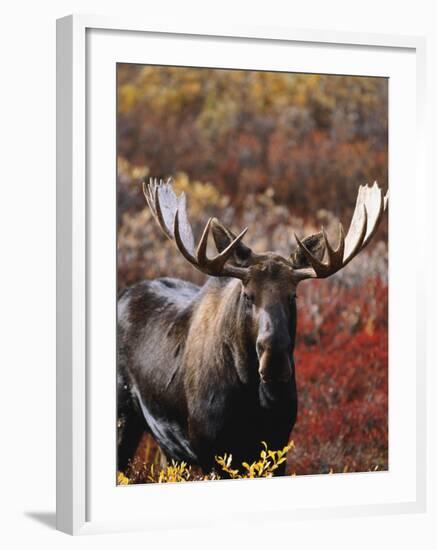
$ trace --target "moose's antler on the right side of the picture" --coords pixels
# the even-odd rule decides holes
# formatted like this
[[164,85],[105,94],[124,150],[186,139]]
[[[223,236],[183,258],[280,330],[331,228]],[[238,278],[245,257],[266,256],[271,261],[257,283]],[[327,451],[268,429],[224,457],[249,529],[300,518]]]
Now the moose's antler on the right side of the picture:
[[[370,241],[374,235],[382,215],[387,208],[388,194],[384,197],[379,185],[369,187],[360,185],[357,202],[352,216],[349,231],[344,236],[343,226],[339,225],[339,237],[336,248],[333,248],[322,228],[322,238],[325,248],[324,259],[316,258],[295,234],[299,249],[308,260],[311,267],[295,269],[299,280],[308,278],[325,278],[345,267]],[[324,261],[326,260],[326,261]]]

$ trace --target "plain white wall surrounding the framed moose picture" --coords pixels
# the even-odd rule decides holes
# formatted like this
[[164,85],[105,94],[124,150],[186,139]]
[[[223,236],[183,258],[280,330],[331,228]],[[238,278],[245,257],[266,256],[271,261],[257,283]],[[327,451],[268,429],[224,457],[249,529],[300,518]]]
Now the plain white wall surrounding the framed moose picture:
[[[141,13],[153,20],[214,19],[232,23],[363,32],[428,34],[429,156],[435,176],[437,129],[437,18],[433,1],[279,0],[195,2],[114,0],[3,4],[1,13],[1,195],[0,277],[2,361],[0,375],[0,544],[4,548],[120,544],[160,548],[354,548],[366,550],[437,547],[436,476],[431,471],[430,512],[420,516],[299,522],[244,527],[213,534],[168,532],[72,539],[50,529],[54,512],[55,434],[55,19],[71,12]],[[196,9],[196,5],[199,9]],[[432,70],[431,70],[432,69]],[[432,141],[433,139],[433,141]],[[435,204],[427,200],[430,220]],[[422,238],[422,236],[420,236]],[[430,240],[431,243],[431,240]],[[430,245],[431,246],[431,245]],[[435,247],[434,247],[435,249]],[[411,251],[409,251],[411,256]],[[435,265],[435,262],[434,262]],[[430,278],[431,279],[431,278]],[[436,299],[429,289],[429,308]],[[433,314],[433,328],[436,328]],[[435,330],[434,330],[435,332]],[[432,334],[432,333],[431,333]],[[431,338],[429,338],[431,340]],[[429,365],[437,364],[429,343]],[[436,418],[436,376],[428,377],[430,408]],[[431,470],[436,464],[434,426]],[[408,438],[408,434],[405,434]],[[35,519],[37,516],[38,519]],[[41,521],[41,519],[43,521]],[[8,538],[9,542],[5,543]]]

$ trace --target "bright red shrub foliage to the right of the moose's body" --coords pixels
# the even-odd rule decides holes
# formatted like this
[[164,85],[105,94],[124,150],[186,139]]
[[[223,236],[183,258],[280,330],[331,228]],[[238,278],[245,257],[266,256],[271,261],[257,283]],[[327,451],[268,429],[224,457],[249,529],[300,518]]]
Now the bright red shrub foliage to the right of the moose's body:
[[299,415],[288,471],[385,470],[387,286],[368,279],[360,287],[334,287],[336,295],[329,300],[332,285],[312,284],[319,285],[322,296],[317,315],[308,308],[299,311],[295,353]]

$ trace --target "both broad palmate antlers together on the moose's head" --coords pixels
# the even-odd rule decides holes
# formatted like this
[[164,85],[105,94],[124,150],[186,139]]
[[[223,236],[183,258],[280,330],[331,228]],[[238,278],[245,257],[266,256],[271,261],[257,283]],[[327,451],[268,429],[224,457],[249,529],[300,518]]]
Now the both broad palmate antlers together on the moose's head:
[[[184,258],[207,275],[245,280],[248,277],[249,265],[262,263],[266,258],[278,257],[271,252],[265,254],[251,252],[250,262],[244,266],[237,265],[233,255],[246,234],[246,228],[237,237],[228,232],[227,246],[223,249],[220,247],[219,253],[214,258],[208,258],[207,245],[211,224],[214,224],[213,229],[221,225],[218,220],[214,218],[208,220],[199,244],[195,247],[193,231],[187,216],[185,194],[182,193],[179,196],[175,194],[172,180],[168,179],[164,182],[150,178],[148,184],[143,183],[143,193],[164,234],[175,243]],[[321,233],[303,240],[295,235],[298,250],[305,258],[306,265],[305,267],[296,265],[293,256],[283,260],[292,269],[296,282],[309,278],[329,277],[345,267],[369,243],[387,208],[387,202],[388,195],[383,196],[376,182],[371,187],[360,185],[349,230],[345,237],[343,226],[339,225],[338,244],[335,248],[329,242],[323,228]],[[315,245],[317,245],[317,255]]]

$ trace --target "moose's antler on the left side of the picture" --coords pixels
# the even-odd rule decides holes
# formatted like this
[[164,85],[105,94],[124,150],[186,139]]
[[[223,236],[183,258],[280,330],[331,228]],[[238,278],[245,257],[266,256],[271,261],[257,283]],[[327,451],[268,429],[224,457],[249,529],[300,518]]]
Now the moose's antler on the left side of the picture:
[[166,182],[150,178],[148,184],[143,183],[143,193],[146,201],[164,234],[176,244],[184,258],[202,273],[214,277],[244,279],[247,276],[247,269],[227,262],[246,234],[247,227],[214,258],[208,258],[206,249],[213,219],[208,220],[195,249],[193,231],[187,216],[185,193],[177,196],[171,183],[171,178]]

